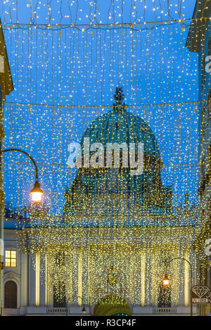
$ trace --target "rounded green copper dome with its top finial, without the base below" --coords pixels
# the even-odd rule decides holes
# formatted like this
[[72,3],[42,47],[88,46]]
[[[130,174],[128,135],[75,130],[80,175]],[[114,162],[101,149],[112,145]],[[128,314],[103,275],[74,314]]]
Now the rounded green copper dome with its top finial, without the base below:
[[[96,118],[94,122],[84,132],[80,145],[82,147],[82,159],[84,158],[84,139],[89,138],[89,144],[101,143],[106,152],[107,144],[126,143],[134,144],[136,159],[138,157],[138,145],[143,144],[143,174],[131,175],[130,168],[120,168],[119,172],[127,180],[127,191],[139,193],[139,186],[148,184],[153,177],[160,176],[160,169],[162,167],[162,160],[160,159],[160,152],[158,148],[155,135],[151,128],[139,118],[139,116],[129,113],[127,106],[122,104],[124,95],[122,94],[122,87],[116,89],[114,96],[116,104],[113,104],[113,109]],[[129,159],[129,154],[128,154]],[[105,179],[106,176],[115,174],[115,169],[106,168],[106,153],[105,163],[101,168],[82,168],[77,170],[77,173],[82,179],[82,182],[88,186],[97,186],[101,179]],[[116,189],[115,189],[116,191]]]

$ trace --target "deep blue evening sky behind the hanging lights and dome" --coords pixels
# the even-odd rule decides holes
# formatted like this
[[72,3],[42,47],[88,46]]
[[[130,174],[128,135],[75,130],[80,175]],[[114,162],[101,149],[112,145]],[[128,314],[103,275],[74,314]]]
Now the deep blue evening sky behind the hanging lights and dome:
[[[195,1],[170,0],[170,11],[163,0],[96,3],[1,3],[15,87],[6,99],[5,146],[34,157],[46,203],[62,214],[65,186],[75,177],[66,165],[68,144],[108,112],[115,87],[122,85],[128,110],[155,133],[165,165],[162,182],[173,185],[174,205],[186,192],[194,200],[198,57],[185,44]],[[27,205],[34,183],[30,161],[6,155],[5,168],[6,201]]]

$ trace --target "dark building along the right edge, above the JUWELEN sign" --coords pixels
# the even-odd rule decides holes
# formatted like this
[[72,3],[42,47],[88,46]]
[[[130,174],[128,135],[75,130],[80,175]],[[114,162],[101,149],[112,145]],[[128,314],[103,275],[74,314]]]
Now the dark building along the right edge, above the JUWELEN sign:
[[[210,175],[211,175],[211,1],[196,1],[186,46],[198,53],[198,198],[202,223],[196,239],[200,284],[211,287],[210,258],[205,254],[205,242],[211,238]],[[199,307],[200,315],[210,315],[210,307]]]

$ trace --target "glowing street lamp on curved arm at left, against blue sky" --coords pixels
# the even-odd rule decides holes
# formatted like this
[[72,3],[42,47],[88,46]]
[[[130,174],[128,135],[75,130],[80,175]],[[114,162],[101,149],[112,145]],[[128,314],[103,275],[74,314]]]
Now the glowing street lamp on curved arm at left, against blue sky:
[[37,170],[37,164],[35,163],[34,159],[32,158],[32,156],[30,156],[29,153],[27,153],[26,151],[23,151],[21,149],[17,149],[17,148],[8,148],[8,149],[4,149],[0,151],[0,155],[1,153],[6,153],[8,151],[18,151],[20,153],[24,153],[27,157],[30,158],[30,160],[32,160],[32,163],[34,164],[35,167],[35,172],[36,172],[36,177],[35,177],[35,182],[34,182],[34,187],[33,189],[30,191],[30,195],[32,197],[32,201],[34,203],[39,203],[41,202],[41,198],[43,196],[43,191],[40,188],[40,184],[39,184],[39,180],[38,180],[38,170]]

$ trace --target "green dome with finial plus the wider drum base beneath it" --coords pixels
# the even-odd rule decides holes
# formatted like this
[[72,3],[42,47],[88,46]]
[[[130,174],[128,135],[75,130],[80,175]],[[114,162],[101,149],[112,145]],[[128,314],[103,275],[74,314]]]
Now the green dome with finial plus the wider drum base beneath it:
[[[104,199],[98,203],[105,203],[105,210],[108,210],[106,196],[111,196],[115,201],[124,196],[126,203],[149,208],[151,212],[157,214],[170,212],[172,187],[162,186],[160,177],[162,160],[155,135],[144,120],[129,113],[125,103],[122,104],[124,99],[122,87],[116,89],[114,97],[116,103],[113,104],[112,110],[96,118],[86,129],[81,139],[82,166],[77,167],[77,176],[72,186],[65,190],[65,214],[73,214],[78,205],[81,205],[79,208],[79,212],[81,212],[83,208],[87,209],[91,203],[95,205],[98,198],[101,197]],[[86,165],[85,139],[89,140],[88,159],[90,161],[93,156],[93,153],[90,152],[90,146],[99,143],[103,146],[103,163],[98,163],[98,167]],[[143,171],[138,174],[133,173],[130,160],[127,167],[123,166],[123,151],[121,150],[120,166],[115,167],[113,164],[107,166],[107,144],[120,146],[123,143],[128,146],[126,151],[128,159],[130,159],[129,145],[134,144],[136,161],[140,156],[138,146],[143,144]],[[85,204],[89,206],[83,206]]]

